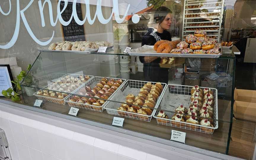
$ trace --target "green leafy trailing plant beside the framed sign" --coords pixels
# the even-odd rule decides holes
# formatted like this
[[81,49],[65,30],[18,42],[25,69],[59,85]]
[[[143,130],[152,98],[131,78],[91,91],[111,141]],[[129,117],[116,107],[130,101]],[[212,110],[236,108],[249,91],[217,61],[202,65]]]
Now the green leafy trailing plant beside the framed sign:
[[14,102],[20,101],[20,94],[18,94],[18,92],[21,90],[20,82],[25,78],[24,83],[26,86],[33,85],[33,75],[28,73],[30,69],[31,64],[28,65],[26,71],[21,71],[17,78],[12,81],[14,86],[11,86],[7,90],[2,90],[4,97],[11,98]]

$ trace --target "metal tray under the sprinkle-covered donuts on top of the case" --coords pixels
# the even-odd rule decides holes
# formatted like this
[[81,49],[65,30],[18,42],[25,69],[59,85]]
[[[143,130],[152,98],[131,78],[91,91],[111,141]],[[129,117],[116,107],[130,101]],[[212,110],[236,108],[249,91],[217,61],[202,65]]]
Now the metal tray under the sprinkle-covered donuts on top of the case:
[[133,53],[128,52],[129,55],[133,56],[155,56],[155,57],[184,57],[184,58],[219,58],[220,54],[173,54],[173,53]]

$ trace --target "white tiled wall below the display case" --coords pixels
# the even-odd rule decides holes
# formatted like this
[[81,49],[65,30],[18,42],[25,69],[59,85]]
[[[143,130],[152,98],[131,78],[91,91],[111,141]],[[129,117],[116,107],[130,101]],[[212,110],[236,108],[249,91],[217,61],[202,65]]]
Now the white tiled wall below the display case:
[[7,135],[13,160],[164,160],[116,143],[1,110],[0,128]]

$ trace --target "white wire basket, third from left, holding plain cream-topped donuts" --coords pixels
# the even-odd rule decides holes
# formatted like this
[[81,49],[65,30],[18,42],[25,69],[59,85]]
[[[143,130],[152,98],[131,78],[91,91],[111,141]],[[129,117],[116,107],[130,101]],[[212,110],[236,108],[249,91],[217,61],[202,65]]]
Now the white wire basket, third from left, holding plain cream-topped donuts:
[[[128,94],[138,95],[140,92],[140,88],[143,87],[144,84],[146,84],[147,82],[148,81],[127,80],[122,87],[117,89],[116,94],[110,99],[111,101],[109,101],[108,104],[104,107],[105,110],[107,110],[108,114],[110,115],[122,116],[122,117],[150,122],[152,116],[156,113],[156,110],[153,110],[151,115],[143,115],[139,113],[117,110],[117,108],[120,107],[121,105],[121,103],[118,103],[118,102],[125,102],[126,100],[125,98]],[[156,84],[156,82],[151,82],[151,83]],[[161,83],[161,84],[163,86],[163,91],[156,101],[155,108],[158,108],[161,98],[163,97],[165,87],[167,86],[166,83]]]

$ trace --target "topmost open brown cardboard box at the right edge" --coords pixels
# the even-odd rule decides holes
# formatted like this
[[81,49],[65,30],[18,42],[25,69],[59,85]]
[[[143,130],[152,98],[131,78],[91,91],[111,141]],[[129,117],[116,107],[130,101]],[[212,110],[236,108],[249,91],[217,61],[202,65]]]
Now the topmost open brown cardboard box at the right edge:
[[256,103],[256,91],[246,89],[236,89],[234,91],[234,100],[242,102]]

